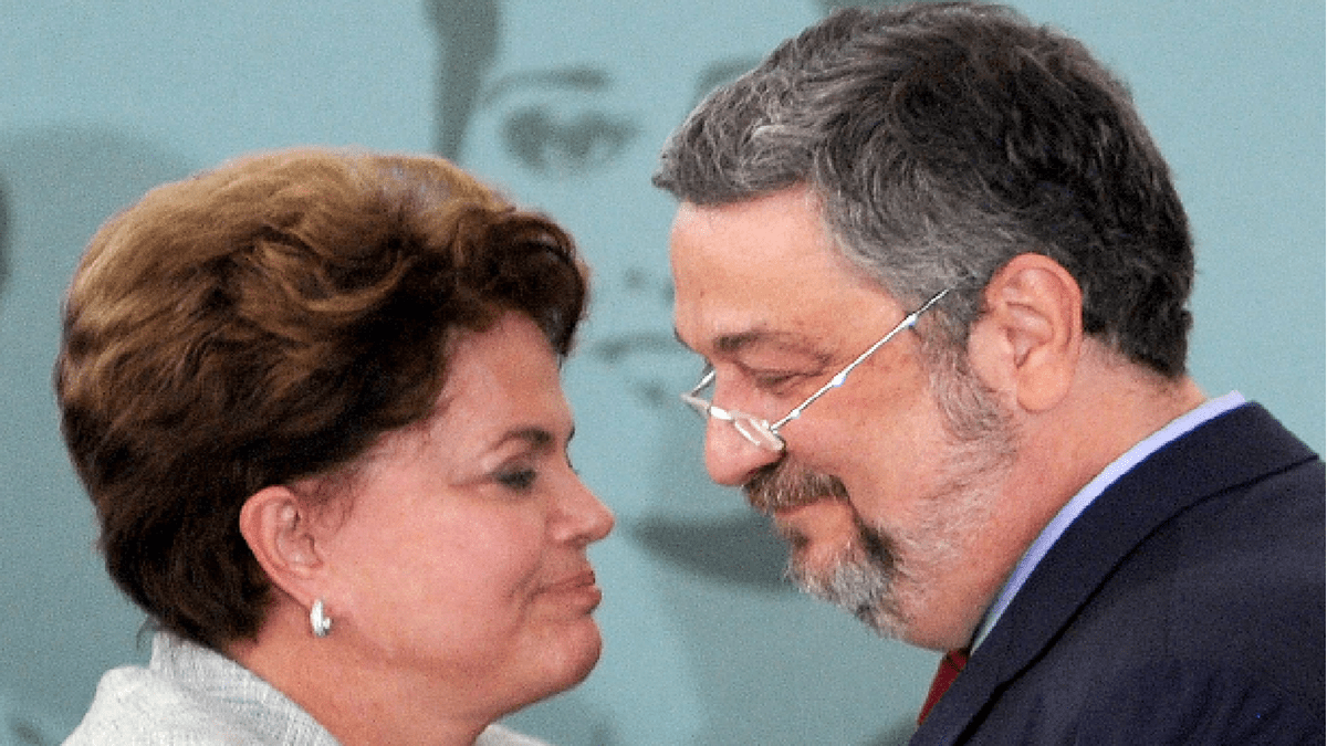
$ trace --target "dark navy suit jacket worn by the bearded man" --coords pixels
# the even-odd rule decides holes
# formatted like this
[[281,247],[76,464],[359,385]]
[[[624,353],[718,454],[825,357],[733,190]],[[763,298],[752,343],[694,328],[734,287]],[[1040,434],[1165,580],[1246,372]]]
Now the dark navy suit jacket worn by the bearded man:
[[1245,405],[1107,488],[914,745],[1323,743],[1323,462]]

